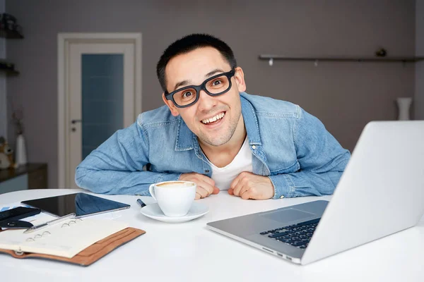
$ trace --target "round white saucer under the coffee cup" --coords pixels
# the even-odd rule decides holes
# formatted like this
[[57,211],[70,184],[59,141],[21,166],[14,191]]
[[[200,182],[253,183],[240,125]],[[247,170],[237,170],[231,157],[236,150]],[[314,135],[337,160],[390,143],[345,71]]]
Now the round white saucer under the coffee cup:
[[185,216],[170,217],[165,216],[158,204],[148,204],[146,207],[141,208],[141,214],[150,217],[151,219],[156,219],[158,221],[163,221],[167,223],[181,223],[185,221],[191,221],[192,219],[197,219],[204,214],[209,212],[208,206],[206,204],[201,204],[199,202],[194,202],[190,208],[188,214]]

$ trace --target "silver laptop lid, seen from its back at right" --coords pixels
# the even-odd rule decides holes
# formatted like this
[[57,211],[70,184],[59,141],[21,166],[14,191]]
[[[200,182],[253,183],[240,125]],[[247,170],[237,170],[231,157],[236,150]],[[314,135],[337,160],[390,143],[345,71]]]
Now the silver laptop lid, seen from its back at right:
[[368,123],[302,264],[416,225],[424,213],[424,121]]

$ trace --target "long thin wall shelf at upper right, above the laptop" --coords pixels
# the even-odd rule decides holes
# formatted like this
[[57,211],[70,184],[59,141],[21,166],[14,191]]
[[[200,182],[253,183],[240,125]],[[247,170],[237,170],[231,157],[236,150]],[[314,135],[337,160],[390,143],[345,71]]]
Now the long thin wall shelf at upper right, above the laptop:
[[343,57],[343,56],[326,56],[326,57],[294,57],[294,56],[280,56],[272,54],[261,54],[259,59],[268,60],[269,64],[272,66],[272,62],[279,61],[356,61],[356,62],[403,62],[403,63],[415,63],[416,61],[423,61],[424,57]]

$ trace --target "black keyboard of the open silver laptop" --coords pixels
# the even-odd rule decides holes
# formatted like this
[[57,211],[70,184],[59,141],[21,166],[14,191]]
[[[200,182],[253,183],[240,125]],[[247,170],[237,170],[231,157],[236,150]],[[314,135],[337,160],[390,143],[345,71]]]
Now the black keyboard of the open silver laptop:
[[305,249],[309,244],[319,219],[312,219],[290,226],[283,226],[269,231],[261,232],[261,235],[290,244],[300,249]]

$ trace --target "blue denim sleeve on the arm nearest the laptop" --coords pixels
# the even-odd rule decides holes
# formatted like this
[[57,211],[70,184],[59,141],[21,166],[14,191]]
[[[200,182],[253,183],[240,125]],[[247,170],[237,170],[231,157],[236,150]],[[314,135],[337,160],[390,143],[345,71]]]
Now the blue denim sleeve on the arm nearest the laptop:
[[300,169],[269,176],[274,186],[273,199],[331,195],[351,153],[341,147],[318,118],[302,109],[293,129]]

